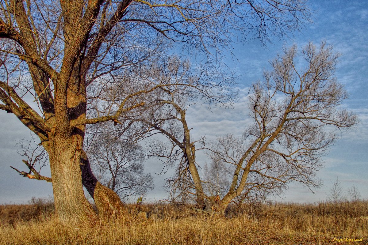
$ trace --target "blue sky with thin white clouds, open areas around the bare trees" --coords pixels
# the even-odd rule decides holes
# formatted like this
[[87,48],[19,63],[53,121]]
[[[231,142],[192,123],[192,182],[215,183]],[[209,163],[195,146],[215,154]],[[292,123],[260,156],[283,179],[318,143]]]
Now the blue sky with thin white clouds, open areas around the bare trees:
[[[233,133],[240,135],[247,118],[248,87],[252,82],[262,79],[263,69],[270,68],[269,60],[281,51],[283,45],[298,44],[299,47],[309,41],[315,44],[326,40],[335,51],[342,53],[335,76],[345,84],[350,98],[342,105],[352,109],[360,118],[360,123],[349,131],[344,131],[341,139],[331,147],[324,157],[325,167],[317,175],[324,186],[316,194],[299,184],[291,184],[279,201],[315,202],[326,200],[331,182],[341,181],[344,190],[357,185],[362,198],[368,199],[368,1],[310,1],[315,10],[314,23],[306,26],[294,38],[272,40],[272,44],[263,47],[257,40],[245,44],[234,44],[234,60],[228,55],[225,62],[240,76],[240,100],[234,110],[219,109],[209,111],[206,106],[191,108],[188,124],[194,127],[194,137],[206,135],[214,138],[215,134]],[[29,180],[19,176],[9,165],[24,170],[21,156],[16,152],[15,140],[29,138],[29,130],[14,115],[0,111],[2,130],[0,130],[0,203],[23,203],[31,197],[48,197],[52,195],[52,186],[44,181]],[[206,161],[202,156],[202,163]],[[160,168],[157,161],[146,162],[146,172],[153,175]],[[44,175],[50,176],[45,169]],[[150,191],[147,201],[166,197],[164,179],[167,176],[154,176],[156,188]]]

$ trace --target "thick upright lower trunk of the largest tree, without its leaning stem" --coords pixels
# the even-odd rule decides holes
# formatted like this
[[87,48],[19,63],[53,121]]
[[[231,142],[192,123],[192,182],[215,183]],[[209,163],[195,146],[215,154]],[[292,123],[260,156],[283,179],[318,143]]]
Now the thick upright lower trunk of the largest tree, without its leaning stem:
[[84,196],[80,147],[80,139],[78,142],[76,136],[64,140],[50,140],[54,203],[61,223],[93,223],[97,219],[95,211]]

